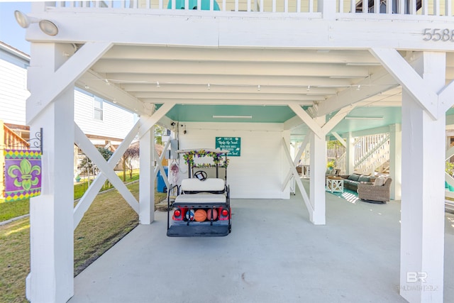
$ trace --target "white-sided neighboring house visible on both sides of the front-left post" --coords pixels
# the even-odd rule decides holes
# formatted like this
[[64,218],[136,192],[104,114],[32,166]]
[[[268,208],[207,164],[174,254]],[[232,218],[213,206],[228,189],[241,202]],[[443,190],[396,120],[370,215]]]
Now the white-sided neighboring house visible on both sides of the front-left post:
[[[0,150],[26,148],[34,134],[26,126],[27,67],[30,56],[0,41]],[[74,122],[96,146],[112,150],[131,129],[137,116],[116,104],[94,96],[83,89],[74,89]],[[77,152],[77,149],[74,150]],[[0,156],[3,167],[3,153]],[[74,160],[74,166],[77,159]],[[74,172],[77,167],[74,167]],[[3,192],[4,178],[0,178]],[[1,195],[3,197],[3,195]]]

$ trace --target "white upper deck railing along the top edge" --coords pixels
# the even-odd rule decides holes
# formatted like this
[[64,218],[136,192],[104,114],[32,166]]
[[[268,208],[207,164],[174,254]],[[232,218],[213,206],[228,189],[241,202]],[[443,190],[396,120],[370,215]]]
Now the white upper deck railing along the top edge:
[[324,11],[362,14],[361,16],[365,14],[454,16],[453,0],[118,0],[57,1],[48,2],[47,5],[60,8],[196,9],[260,13],[322,13],[321,8],[324,7]]

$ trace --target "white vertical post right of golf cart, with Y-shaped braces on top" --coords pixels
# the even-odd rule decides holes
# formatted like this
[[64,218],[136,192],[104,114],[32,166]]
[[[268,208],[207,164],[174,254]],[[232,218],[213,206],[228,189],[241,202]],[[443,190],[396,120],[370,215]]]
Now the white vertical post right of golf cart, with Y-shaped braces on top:
[[326,171],[326,141],[311,132],[311,176],[310,201],[314,213],[309,214],[310,220],[316,225],[326,224],[325,218],[325,171]]

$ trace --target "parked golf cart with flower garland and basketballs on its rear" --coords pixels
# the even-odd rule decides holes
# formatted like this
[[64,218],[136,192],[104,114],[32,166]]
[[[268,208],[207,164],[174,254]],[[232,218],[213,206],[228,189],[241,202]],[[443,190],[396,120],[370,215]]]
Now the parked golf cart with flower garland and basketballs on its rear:
[[[230,187],[226,184],[228,150],[177,153],[187,163],[188,177],[168,189],[167,236],[227,236],[231,232]],[[204,157],[212,158],[211,162],[198,163]]]

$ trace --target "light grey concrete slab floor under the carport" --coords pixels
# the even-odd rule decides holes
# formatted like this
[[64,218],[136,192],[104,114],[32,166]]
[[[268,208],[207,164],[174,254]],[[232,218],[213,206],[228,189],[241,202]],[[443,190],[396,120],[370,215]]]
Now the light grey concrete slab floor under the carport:
[[[326,226],[304,203],[232,201],[232,233],[168,238],[167,213],[79,274],[81,302],[406,302],[399,296],[400,203],[326,194]],[[445,216],[445,302],[454,302],[454,215]]]

